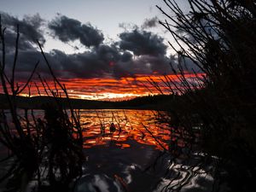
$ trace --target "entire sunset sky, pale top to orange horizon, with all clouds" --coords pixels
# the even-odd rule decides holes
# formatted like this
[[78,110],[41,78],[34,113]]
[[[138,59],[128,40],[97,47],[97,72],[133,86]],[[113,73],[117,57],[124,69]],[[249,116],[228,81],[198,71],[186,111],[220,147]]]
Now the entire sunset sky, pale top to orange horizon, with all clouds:
[[[20,84],[40,61],[37,73],[54,86],[38,51],[38,39],[71,96],[111,100],[157,92],[148,90],[148,77],[159,83],[163,75],[175,80],[170,62],[175,67],[177,57],[168,47],[172,38],[158,23],[165,17],[155,5],[166,7],[161,0],[1,0],[7,63],[13,62],[15,26],[19,24],[16,81]],[[193,65],[189,67],[188,73]],[[33,82],[44,95],[37,75]],[[32,86],[32,95],[38,95],[36,86]]]

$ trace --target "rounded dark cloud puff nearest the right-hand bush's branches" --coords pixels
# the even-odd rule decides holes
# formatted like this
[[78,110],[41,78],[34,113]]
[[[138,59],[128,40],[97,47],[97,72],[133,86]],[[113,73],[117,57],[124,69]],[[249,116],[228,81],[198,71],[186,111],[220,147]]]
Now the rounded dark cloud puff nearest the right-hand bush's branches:
[[166,44],[163,38],[152,32],[133,30],[119,35],[119,47],[131,50],[134,55],[166,55]]

